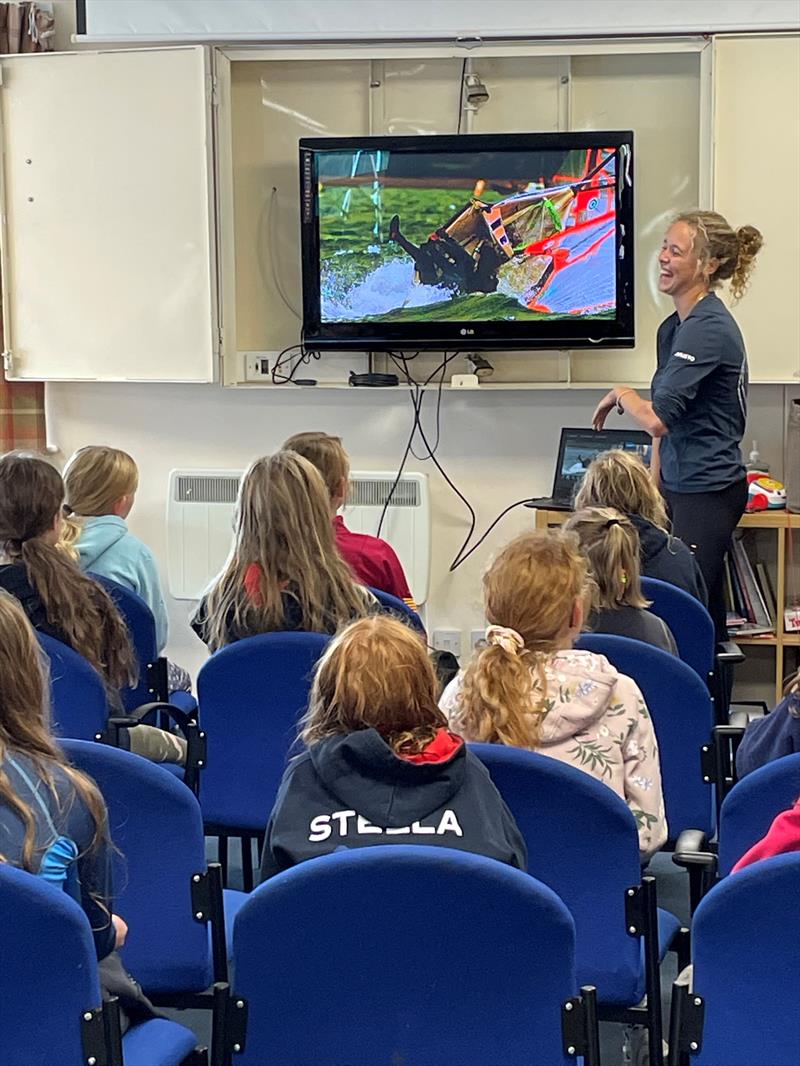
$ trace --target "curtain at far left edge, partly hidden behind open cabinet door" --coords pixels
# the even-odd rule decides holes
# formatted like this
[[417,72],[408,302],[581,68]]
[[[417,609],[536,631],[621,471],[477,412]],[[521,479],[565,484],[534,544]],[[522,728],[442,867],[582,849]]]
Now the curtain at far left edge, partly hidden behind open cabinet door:
[[[0,53],[45,52],[53,47],[53,16],[36,3],[0,3]],[[2,308],[0,307],[0,335]],[[47,440],[45,386],[6,382],[0,367],[0,452],[42,451]]]

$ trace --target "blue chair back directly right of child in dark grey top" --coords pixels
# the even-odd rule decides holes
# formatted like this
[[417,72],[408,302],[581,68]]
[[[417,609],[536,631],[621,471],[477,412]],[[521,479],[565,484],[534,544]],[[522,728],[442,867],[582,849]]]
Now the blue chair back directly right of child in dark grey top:
[[652,600],[650,610],[670,627],[678,657],[708,684],[717,722],[725,724],[731,669],[743,662],[743,655],[731,641],[717,645],[711,616],[690,593],[657,578],[642,578],[641,582],[642,592]]

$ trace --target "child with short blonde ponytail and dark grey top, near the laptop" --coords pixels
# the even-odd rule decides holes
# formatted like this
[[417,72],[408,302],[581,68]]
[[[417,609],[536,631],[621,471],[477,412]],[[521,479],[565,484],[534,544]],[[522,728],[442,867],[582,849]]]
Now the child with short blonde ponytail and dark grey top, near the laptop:
[[594,582],[588,628],[677,655],[669,627],[646,610],[650,601],[639,580],[639,535],[630,519],[611,507],[583,507],[570,516],[564,529],[577,534]]

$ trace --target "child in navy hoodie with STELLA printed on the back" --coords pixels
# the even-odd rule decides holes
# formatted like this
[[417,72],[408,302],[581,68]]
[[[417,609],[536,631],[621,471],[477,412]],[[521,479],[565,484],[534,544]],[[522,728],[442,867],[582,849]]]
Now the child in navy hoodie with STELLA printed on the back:
[[261,879],[339,847],[433,844],[522,870],[525,842],[482,763],[447,728],[419,633],[362,618],[327,646],[267,827]]

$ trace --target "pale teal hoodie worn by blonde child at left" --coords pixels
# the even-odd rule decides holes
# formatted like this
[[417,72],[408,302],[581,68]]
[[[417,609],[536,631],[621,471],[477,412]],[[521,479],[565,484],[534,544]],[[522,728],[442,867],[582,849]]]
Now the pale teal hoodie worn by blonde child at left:
[[124,518],[99,515],[82,518],[77,544],[82,570],[91,570],[132,588],[153,611],[159,653],[169,636],[166,604],[153,552],[139,537],[128,532]]

